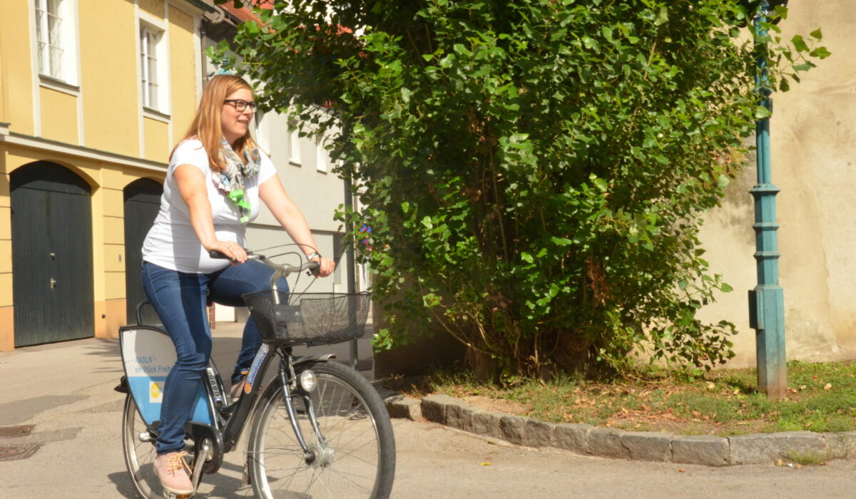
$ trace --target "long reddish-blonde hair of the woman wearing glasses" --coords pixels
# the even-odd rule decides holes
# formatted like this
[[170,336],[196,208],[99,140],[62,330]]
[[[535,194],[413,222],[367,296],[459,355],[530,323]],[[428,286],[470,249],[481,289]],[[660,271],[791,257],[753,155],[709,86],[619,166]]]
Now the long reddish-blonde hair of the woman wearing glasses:
[[[202,98],[199,100],[199,107],[196,108],[196,116],[193,116],[193,122],[187,128],[184,137],[175,143],[178,147],[181,142],[187,139],[196,138],[202,142],[205,147],[205,152],[208,154],[208,164],[214,171],[222,171],[226,165],[220,159],[220,140],[223,138],[223,130],[220,123],[220,112],[223,110],[223,100],[233,92],[246,88],[250,92],[253,87],[250,86],[240,76],[235,74],[217,74],[208,80],[208,85],[202,91]],[[247,134],[235,142],[233,149],[238,153],[239,157],[243,157],[243,152],[246,147],[254,147],[253,138],[250,136],[250,131],[247,129]],[[175,147],[169,152],[169,159],[175,152]]]

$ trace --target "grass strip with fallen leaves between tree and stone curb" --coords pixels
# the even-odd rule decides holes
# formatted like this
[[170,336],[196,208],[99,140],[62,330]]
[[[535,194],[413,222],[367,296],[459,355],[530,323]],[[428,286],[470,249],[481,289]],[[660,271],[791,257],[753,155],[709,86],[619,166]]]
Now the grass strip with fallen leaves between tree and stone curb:
[[693,379],[652,370],[611,383],[565,376],[499,385],[478,382],[465,372],[435,371],[419,380],[390,380],[389,386],[407,395],[442,393],[476,407],[554,423],[634,431],[719,436],[856,431],[856,362],[789,362],[784,401],[767,400],[756,380],[754,369],[712,371]]

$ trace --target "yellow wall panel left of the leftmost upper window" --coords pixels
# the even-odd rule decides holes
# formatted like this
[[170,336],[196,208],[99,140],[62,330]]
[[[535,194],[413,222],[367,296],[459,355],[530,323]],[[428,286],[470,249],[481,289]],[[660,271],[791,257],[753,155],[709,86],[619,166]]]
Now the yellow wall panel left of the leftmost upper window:
[[11,123],[13,132],[34,135],[29,16],[29,2],[4,1],[0,8],[0,122]]

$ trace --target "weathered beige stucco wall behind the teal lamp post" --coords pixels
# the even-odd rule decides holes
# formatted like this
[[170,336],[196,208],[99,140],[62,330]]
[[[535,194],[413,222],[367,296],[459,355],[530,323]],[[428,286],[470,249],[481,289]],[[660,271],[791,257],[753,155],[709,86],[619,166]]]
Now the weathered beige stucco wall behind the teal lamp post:
[[[782,38],[817,27],[833,56],[801,77],[790,92],[774,94],[770,122],[780,277],[785,297],[788,359],[856,358],[856,219],[853,146],[856,141],[856,5],[848,0],[792,2]],[[757,283],[751,163],[728,187],[722,208],[710,213],[702,240],[711,270],[734,292],[704,310],[726,318],[740,334],[731,366],[755,365],[755,331],[749,328],[747,290]]]

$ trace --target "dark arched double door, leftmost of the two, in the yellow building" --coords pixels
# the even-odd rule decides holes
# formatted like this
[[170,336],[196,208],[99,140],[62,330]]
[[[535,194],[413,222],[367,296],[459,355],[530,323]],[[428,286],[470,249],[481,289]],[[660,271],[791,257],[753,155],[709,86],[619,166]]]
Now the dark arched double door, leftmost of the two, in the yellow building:
[[91,187],[47,161],[9,187],[15,347],[94,336]]

